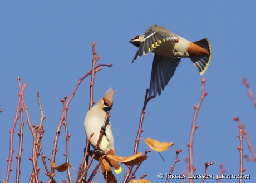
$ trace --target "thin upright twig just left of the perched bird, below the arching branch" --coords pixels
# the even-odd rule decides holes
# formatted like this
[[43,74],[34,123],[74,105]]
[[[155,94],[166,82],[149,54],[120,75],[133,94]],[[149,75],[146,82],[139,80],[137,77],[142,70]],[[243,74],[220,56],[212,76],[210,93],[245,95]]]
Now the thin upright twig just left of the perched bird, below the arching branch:
[[[67,98],[67,96],[64,97],[65,100]],[[69,160],[69,156],[68,156],[68,140],[70,139],[70,134],[68,134],[68,128],[67,128],[67,110],[68,107],[65,107],[65,101],[63,102],[63,110],[64,110],[64,115],[65,115],[65,122],[63,122],[64,126],[65,126],[65,132],[66,132],[66,162],[69,164],[70,160]],[[71,172],[70,172],[70,167],[67,168],[67,177],[68,177],[68,181],[70,181],[70,183],[72,183],[72,178],[71,178]]]

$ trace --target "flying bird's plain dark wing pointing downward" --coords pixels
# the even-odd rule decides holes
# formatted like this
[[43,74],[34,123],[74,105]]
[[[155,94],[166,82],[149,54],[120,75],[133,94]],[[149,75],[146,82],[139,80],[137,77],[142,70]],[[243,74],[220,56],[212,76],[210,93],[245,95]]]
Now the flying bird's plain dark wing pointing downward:
[[149,87],[149,95],[161,94],[161,91],[164,90],[164,87],[169,82],[170,78],[174,75],[176,67],[178,67],[180,58],[166,57],[162,55],[154,55],[152,71],[151,71],[151,80]]

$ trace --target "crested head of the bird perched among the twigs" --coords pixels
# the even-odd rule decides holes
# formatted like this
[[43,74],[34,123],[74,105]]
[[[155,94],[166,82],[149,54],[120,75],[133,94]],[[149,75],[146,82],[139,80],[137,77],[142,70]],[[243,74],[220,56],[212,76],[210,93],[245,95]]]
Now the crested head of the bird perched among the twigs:
[[109,90],[106,91],[104,97],[101,98],[97,103],[97,105],[100,105],[105,112],[110,111],[113,106],[114,93],[115,90],[113,90],[113,88],[109,88]]

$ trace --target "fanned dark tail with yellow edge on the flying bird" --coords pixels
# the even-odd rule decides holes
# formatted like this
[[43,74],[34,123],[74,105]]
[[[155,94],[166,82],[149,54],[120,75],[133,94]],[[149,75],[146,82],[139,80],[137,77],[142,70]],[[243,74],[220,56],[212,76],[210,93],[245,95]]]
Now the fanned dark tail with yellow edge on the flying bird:
[[194,63],[195,67],[198,69],[200,75],[203,75],[210,65],[211,60],[211,44],[208,38],[202,39],[200,41],[193,42],[194,44],[204,48],[204,50],[209,52],[209,55],[200,57],[190,57],[191,61]]

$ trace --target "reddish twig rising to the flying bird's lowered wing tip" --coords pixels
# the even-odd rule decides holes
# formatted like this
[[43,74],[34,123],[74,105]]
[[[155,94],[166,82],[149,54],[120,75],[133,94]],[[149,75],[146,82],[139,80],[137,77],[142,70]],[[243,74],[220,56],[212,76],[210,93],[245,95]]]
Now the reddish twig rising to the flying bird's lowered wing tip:
[[[142,108],[142,112],[141,112],[141,115],[140,115],[140,123],[139,123],[139,129],[138,129],[138,132],[137,132],[137,137],[136,137],[136,140],[135,140],[135,146],[134,146],[134,155],[137,153],[138,151],[138,147],[139,147],[139,139],[140,139],[140,135],[141,135],[141,132],[142,132],[142,123],[143,123],[143,120],[144,120],[144,115],[146,113],[146,106],[147,106],[147,102],[149,102],[152,98],[155,98],[155,96],[148,96],[149,95],[149,89],[146,90],[146,95],[145,95],[145,100],[144,100],[144,104],[143,104],[143,108]],[[127,173],[125,175],[125,179],[124,181],[122,181],[123,183],[126,183],[128,182],[128,178],[131,174],[131,171],[133,169],[133,165],[129,167],[129,170],[127,170]]]

